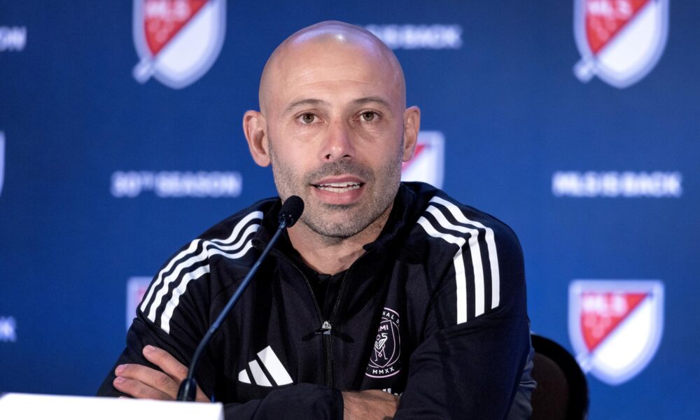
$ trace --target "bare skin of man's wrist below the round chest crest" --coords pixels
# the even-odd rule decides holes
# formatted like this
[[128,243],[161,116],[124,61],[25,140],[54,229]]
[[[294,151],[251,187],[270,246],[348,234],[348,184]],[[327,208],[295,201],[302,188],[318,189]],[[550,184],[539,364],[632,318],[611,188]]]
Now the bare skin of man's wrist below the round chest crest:
[[343,419],[391,419],[398,408],[398,400],[398,395],[379,389],[343,391]]

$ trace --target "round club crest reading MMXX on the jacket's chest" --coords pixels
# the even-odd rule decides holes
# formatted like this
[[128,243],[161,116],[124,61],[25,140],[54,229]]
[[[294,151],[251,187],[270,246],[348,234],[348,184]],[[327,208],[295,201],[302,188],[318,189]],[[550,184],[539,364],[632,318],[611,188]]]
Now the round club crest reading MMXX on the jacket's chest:
[[365,374],[370,378],[392,377],[401,370],[401,336],[399,317],[393,309],[381,311],[381,322]]

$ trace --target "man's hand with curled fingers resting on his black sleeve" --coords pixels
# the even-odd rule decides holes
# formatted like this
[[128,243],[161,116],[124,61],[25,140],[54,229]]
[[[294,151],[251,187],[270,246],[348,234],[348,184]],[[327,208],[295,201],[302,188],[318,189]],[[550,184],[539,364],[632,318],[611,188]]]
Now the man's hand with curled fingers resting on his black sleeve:
[[[180,384],[187,377],[187,367],[173,356],[154,346],[144,347],[146,360],[160,367],[160,370],[151,369],[142,365],[126,364],[118,365],[114,370],[116,378],[114,387],[134,398],[147,398],[150,400],[174,400]],[[165,372],[165,373],[164,373]],[[197,386],[198,402],[210,402]]]

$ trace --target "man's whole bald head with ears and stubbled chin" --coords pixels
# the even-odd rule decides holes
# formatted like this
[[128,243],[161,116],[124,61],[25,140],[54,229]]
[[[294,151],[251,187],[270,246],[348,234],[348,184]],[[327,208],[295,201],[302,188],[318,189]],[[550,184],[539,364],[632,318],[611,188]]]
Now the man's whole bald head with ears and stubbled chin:
[[386,223],[402,162],[416,147],[420,110],[406,107],[403,71],[379,38],[321,22],[274,50],[260,78],[260,111],[246,111],[243,130],[253,160],[272,166],[279,196],[304,200],[300,223],[289,230],[293,244],[299,235],[295,246],[311,239],[363,245]]

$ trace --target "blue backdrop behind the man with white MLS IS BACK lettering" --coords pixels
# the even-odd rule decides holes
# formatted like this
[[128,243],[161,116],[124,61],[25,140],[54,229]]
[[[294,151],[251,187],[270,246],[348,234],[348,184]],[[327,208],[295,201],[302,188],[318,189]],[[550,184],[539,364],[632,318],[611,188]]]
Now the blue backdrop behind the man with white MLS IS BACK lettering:
[[[627,13],[645,1],[589,3]],[[591,418],[698,416],[700,3],[646,3],[666,26],[645,29],[642,12],[608,21],[654,35],[646,46],[612,40],[660,57],[627,87],[605,80],[604,60],[626,59],[612,46],[591,80],[575,76],[586,51],[574,0],[229,1],[210,34],[221,51],[175,89],[162,63],[146,83],[132,76],[134,4],[3,1],[0,391],[94,394],[123,349],[139,278],[275,194],[241,116],[257,108],[274,47],[337,19],[395,49],[426,150],[444,148],[416,165],[432,179],[442,171],[447,193],[519,235],[535,332],[580,353],[568,326],[575,279],[664,286],[662,325],[642,325],[660,328],[658,348],[622,384],[589,374]]]

